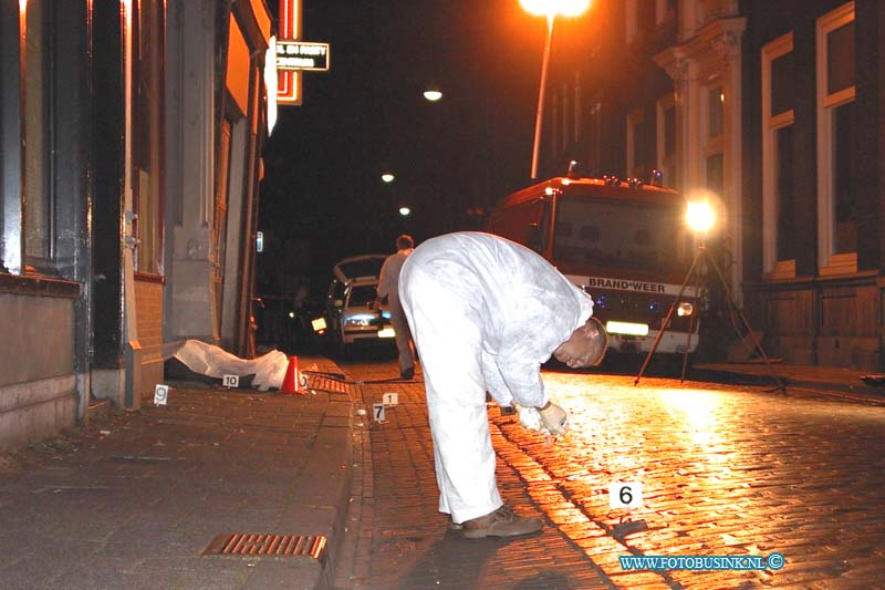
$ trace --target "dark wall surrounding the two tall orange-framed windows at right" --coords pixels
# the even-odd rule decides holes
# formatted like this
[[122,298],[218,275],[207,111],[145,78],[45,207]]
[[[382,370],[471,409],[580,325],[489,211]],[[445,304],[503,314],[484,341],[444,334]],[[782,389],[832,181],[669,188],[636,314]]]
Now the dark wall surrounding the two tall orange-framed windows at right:
[[[855,2],[855,45],[865,48],[855,54],[856,131],[853,158],[864,170],[858,184],[856,206],[858,219],[858,270],[841,276],[821,276],[819,266],[818,226],[818,97],[816,19],[844,4],[825,2],[743,3],[748,19],[745,46],[745,81],[748,105],[743,113],[743,174],[748,206],[745,236],[747,258],[745,273],[748,315],[763,333],[763,345],[771,356],[793,364],[819,364],[877,372],[883,366],[883,306],[885,278],[883,257],[885,234],[878,222],[883,210],[883,172],[876,147],[882,142],[879,112],[883,97],[877,91],[882,77],[876,49],[885,30],[882,2]],[[761,244],[762,162],[761,156],[761,58],[762,46],[793,33],[794,53],[794,123],[793,123],[793,193],[795,230],[795,278],[774,279],[763,276]],[[885,251],[885,250],[883,250]]]

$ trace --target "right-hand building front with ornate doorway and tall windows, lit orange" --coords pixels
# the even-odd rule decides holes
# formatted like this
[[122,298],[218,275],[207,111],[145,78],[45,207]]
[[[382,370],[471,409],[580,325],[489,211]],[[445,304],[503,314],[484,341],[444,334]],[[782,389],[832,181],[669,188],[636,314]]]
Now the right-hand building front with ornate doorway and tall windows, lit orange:
[[554,32],[546,175],[569,159],[622,178],[654,168],[688,198],[714,195],[721,294],[768,354],[881,371],[885,6],[601,0],[591,10]]

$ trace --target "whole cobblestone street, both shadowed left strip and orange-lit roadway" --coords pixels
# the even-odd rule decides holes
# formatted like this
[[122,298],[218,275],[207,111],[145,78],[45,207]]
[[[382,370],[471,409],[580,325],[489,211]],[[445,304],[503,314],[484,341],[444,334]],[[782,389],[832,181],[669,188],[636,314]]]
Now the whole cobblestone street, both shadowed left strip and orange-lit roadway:
[[[490,410],[506,500],[537,537],[466,541],[436,511],[424,387],[391,363],[361,380],[356,477],[336,586],[363,588],[872,588],[885,579],[885,410],[810,395],[545,372],[572,432],[553,445]],[[372,404],[399,403],[386,422]],[[362,457],[361,457],[362,455]],[[633,510],[608,485],[638,482]],[[362,501],[361,500],[362,495]],[[633,522],[633,525],[631,525]],[[638,527],[634,528],[634,525]],[[647,528],[647,529],[646,529]],[[618,556],[768,556],[777,571],[625,571]]]

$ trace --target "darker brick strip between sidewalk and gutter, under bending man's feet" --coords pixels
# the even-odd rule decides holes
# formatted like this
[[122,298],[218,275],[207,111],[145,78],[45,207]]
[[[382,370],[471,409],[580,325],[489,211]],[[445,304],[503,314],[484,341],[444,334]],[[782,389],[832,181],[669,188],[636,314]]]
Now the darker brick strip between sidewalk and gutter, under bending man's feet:
[[[366,413],[355,427],[354,493],[341,551],[352,559],[339,561],[337,588],[614,588],[579,542],[551,526],[549,515],[556,515],[561,497],[540,486],[530,495],[514,468],[521,453],[499,435],[503,460],[497,476],[504,500],[521,514],[545,517],[544,530],[510,540],[468,540],[449,531],[448,519],[437,511],[420,375],[414,382],[372,383],[395,376],[394,363],[343,366],[350,379],[364,382]],[[372,404],[387,392],[396,392],[399,403],[377,423]],[[649,578],[641,573],[634,580]]]

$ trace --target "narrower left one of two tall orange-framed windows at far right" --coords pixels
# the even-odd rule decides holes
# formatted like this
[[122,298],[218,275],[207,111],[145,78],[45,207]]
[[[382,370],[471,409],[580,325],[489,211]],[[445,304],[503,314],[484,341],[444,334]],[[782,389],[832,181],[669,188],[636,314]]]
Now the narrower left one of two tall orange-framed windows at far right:
[[762,48],[762,249],[772,279],[795,277],[793,72],[792,33]]

